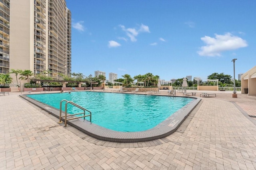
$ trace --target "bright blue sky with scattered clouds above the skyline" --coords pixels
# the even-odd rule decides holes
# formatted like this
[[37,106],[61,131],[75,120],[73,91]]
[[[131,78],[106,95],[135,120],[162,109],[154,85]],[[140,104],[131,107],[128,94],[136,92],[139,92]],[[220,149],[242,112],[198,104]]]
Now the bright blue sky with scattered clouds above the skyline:
[[72,72],[236,79],[256,65],[255,0],[66,0]]

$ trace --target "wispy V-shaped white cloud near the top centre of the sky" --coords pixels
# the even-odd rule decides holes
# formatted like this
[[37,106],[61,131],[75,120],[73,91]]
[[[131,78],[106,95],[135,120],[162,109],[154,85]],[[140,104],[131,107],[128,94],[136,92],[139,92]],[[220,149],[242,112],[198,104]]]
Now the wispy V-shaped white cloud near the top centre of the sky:
[[122,28],[122,30],[126,33],[126,35],[130,38],[130,40],[132,42],[137,41],[136,37],[138,36],[139,33],[141,33],[141,32],[150,33],[148,26],[143,25],[143,24],[140,25],[139,29],[136,29],[136,28],[127,28],[126,29],[124,25],[119,25],[119,26]]

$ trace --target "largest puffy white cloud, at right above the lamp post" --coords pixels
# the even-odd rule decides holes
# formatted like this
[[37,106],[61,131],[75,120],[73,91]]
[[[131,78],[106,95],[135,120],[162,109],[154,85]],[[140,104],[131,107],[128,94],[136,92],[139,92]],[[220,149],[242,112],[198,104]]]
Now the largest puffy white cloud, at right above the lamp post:
[[206,46],[200,47],[200,51],[197,53],[201,56],[221,56],[221,52],[235,50],[242,47],[247,47],[247,42],[231,33],[226,33],[224,35],[215,34],[215,38],[204,36],[201,38]]

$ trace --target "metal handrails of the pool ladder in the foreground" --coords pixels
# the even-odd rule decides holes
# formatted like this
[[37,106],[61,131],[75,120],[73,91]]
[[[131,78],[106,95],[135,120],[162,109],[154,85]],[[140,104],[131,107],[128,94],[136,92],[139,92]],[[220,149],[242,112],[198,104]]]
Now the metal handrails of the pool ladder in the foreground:
[[[65,115],[61,115],[61,113],[62,113],[62,102],[66,102],[66,104],[65,104]],[[69,119],[67,119],[67,116],[73,116],[73,115],[80,115],[80,114],[82,114],[82,113],[75,113],[75,114],[70,114],[70,115],[67,115],[67,107],[68,107],[68,104],[72,104],[73,106],[76,106],[76,107],[78,107],[79,109],[82,109],[84,112],[84,115],[83,116],[78,116],[78,117],[72,117],[72,118],[69,118]],[[88,111],[90,114],[89,115],[85,115],[85,111]],[[84,107],[82,107],[82,106],[79,106],[78,104],[76,104],[76,103],[74,103],[74,102],[72,102],[72,101],[68,101],[68,100],[66,100],[66,99],[64,99],[64,100],[62,100],[62,101],[60,101],[60,121],[58,122],[58,123],[62,123],[62,120],[61,120],[61,118],[62,117],[65,117],[65,127],[67,126],[67,121],[68,120],[72,120],[72,119],[78,119],[78,118],[82,118],[82,117],[84,117],[84,119],[85,119],[85,117],[87,117],[87,116],[90,116],[90,122],[92,121],[92,112],[91,111],[89,111],[89,110],[87,110],[87,109],[85,109]]]

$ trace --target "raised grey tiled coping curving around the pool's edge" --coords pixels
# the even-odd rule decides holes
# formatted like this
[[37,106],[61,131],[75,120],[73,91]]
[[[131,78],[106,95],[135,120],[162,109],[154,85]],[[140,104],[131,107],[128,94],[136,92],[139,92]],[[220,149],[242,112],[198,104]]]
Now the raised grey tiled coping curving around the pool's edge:
[[[48,113],[54,115],[55,117],[60,116],[60,110],[54,107],[48,106],[32,98],[27,97],[28,95],[33,94],[21,94],[20,97],[24,98],[28,102],[44,109]],[[130,94],[134,95],[134,94]],[[162,96],[162,95],[161,95]],[[166,96],[168,97],[168,96]],[[180,97],[180,96],[175,96]],[[197,97],[186,97],[186,98],[194,98],[195,100],[191,101],[186,106],[182,107],[178,111],[176,111],[173,115],[168,117],[166,120],[162,121],[156,127],[140,132],[118,132],[110,129],[106,129],[94,123],[91,123],[88,120],[84,119],[73,119],[67,122],[68,125],[75,127],[76,129],[82,131],[83,133],[90,135],[96,139],[100,139],[102,141],[110,141],[110,142],[120,142],[120,143],[132,143],[132,142],[145,142],[152,141],[155,139],[160,139],[167,137],[174,133],[176,129],[182,124],[182,122],[188,117],[190,112],[198,105],[201,101],[201,98]],[[62,118],[64,121],[64,118]]]

